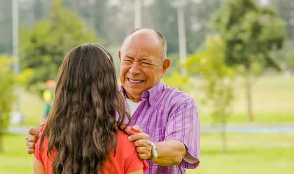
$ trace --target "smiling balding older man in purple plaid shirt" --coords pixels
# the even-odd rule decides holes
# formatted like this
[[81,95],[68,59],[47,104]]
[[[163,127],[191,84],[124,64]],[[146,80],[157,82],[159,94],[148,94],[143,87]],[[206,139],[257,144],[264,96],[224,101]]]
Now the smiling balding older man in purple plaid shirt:
[[[141,28],[129,33],[119,51],[122,92],[132,115],[129,136],[141,159],[149,160],[145,174],[185,174],[199,165],[200,124],[195,101],[161,81],[170,66],[167,43],[159,32]],[[28,153],[34,152],[38,131],[29,130]]]

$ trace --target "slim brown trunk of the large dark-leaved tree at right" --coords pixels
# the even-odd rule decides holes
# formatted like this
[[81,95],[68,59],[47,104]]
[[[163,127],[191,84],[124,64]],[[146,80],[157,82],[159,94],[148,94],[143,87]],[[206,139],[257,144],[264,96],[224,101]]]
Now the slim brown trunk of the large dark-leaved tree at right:
[[246,69],[246,96],[247,96],[247,114],[249,122],[253,121],[253,114],[252,114],[252,95],[251,95],[251,74],[250,69]]

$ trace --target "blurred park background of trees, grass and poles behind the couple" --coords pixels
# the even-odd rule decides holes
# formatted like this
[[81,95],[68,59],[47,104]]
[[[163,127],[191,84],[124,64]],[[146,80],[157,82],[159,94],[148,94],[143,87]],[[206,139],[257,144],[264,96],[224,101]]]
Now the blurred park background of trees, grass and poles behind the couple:
[[119,76],[139,27],[165,36],[163,81],[197,103],[200,165],[187,174],[293,173],[294,0],[0,0],[0,174],[32,173],[25,136],[65,54],[100,43]]

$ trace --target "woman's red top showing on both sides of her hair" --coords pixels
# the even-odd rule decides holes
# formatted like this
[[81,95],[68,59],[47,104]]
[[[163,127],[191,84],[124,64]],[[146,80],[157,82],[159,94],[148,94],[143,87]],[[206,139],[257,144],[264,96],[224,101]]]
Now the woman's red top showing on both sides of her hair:
[[[40,131],[43,132],[45,128],[45,124],[40,127]],[[117,129],[118,130],[118,129]],[[116,148],[116,154],[114,156],[114,150],[109,154],[109,158],[107,158],[104,162],[103,168],[100,170],[101,174],[126,174],[137,171],[141,168],[144,171],[147,169],[148,165],[145,160],[141,160],[138,157],[138,153],[136,151],[136,147],[133,142],[129,142],[127,140],[127,135],[118,130],[118,143]],[[52,164],[53,158],[56,156],[56,151],[51,151],[51,155],[49,157],[47,155],[48,150],[48,142],[47,139],[44,139],[42,144],[42,148],[40,151],[40,139],[38,140],[34,156],[45,166],[46,174],[53,174],[52,172]]]

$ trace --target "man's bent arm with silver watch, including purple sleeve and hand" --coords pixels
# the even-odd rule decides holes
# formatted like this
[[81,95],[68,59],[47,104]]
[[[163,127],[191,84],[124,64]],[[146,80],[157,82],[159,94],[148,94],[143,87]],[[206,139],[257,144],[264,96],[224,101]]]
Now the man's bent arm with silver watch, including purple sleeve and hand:
[[[172,108],[168,124],[165,129],[165,140],[154,143],[158,149],[158,158],[154,160],[161,166],[179,164],[187,169],[194,169],[199,165],[200,123],[196,104],[193,99],[186,99]],[[134,141],[141,159],[151,156],[151,142],[149,136],[142,132],[139,126],[132,127],[141,132],[129,136]],[[184,160],[182,160],[184,158]]]

